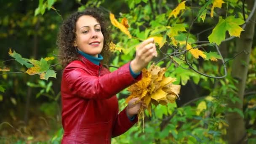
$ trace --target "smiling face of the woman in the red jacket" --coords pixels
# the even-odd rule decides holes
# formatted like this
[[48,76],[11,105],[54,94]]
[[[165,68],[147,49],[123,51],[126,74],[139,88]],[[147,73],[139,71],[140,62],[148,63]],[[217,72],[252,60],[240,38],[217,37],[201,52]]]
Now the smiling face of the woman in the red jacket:
[[91,56],[98,57],[104,43],[99,22],[92,16],[84,15],[76,22],[74,46]]

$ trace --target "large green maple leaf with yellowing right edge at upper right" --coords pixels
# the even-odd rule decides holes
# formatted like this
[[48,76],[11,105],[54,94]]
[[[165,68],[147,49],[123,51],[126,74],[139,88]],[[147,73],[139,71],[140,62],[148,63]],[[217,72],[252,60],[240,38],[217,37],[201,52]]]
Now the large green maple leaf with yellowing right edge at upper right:
[[219,17],[219,23],[208,37],[210,43],[216,43],[219,45],[222,40],[225,40],[226,31],[229,32],[230,36],[240,37],[243,29],[239,27],[239,25],[243,24],[244,22],[245,21],[243,21],[243,19],[235,18],[235,16],[228,16],[227,19],[222,19]]

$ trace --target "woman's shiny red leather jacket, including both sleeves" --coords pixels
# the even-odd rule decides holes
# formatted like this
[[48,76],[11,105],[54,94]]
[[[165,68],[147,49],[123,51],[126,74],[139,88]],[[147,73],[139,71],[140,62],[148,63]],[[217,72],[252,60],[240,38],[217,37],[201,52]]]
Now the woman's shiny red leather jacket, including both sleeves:
[[115,94],[141,79],[134,79],[125,64],[110,73],[82,56],[65,67],[61,81],[62,144],[110,144],[111,138],[128,131],[126,108],[118,114]]

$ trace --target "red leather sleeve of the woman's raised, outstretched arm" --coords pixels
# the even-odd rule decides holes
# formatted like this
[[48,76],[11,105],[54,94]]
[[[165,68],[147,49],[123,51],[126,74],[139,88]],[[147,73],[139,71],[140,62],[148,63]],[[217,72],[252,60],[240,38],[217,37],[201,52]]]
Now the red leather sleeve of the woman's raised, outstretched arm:
[[76,64],[68,65],[63,72],[63,79],[73,95],[84,99],[108,99],[141,79],[134,79],[129,64],[101,77],[89,75]]

